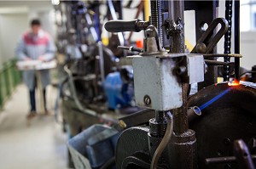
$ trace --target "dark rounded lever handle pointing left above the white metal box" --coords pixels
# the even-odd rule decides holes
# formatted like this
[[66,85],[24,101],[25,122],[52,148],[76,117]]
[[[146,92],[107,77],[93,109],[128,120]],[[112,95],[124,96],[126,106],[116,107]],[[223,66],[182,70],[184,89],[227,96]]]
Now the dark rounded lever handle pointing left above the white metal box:
[[110,20],[104,27],[109,32],[120,32],[120,31],[142,31],[145,30],[149,25],[149,22],[142,20]]

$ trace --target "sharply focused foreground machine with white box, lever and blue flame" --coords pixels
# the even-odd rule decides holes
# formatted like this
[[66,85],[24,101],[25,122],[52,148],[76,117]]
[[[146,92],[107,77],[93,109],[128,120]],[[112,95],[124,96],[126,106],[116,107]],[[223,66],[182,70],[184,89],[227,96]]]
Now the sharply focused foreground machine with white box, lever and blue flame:
[[[239,6],[239,1],[227,0],[224,19],[216,18],[218,1],[154,0],[149,22],[111,20],[105,25],[111,32],[145,31],[143,52],[129,58],[136,104],[155,114],[148,125],[121,132],[117,168],[255,168],[256,85],[239,78]],[[190,54],[185,54],[183,33],[187,9],[195,10],[197,37]],[[235,54],[230,54],[231,30]],[[216,54],[223,36],[224,54]],[[224,82],[217,84],[219,65],[224,66]],[[188,98],[195,82],[199,92]],[[122,126],[131,118],[122,118]]]

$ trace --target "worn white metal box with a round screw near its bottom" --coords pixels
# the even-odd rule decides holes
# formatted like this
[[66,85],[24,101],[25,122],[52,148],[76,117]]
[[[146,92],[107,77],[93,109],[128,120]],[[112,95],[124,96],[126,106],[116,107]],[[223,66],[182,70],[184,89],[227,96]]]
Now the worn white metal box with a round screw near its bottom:
[[182,86],[174,74],[174,59],[136,56],[132,65],[138,106],[154,110],[172,110],[182,106]]

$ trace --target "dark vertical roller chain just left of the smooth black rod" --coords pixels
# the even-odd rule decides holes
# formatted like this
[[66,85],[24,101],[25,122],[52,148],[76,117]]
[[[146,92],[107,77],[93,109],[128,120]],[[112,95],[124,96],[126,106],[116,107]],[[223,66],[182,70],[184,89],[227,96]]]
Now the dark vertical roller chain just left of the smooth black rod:
[[[225,18],[229,22],[229,29],[224,36],[224,54],[230,54],[231,48],[231,27],[232,27],[232,3],[233,0],[226,0]],[[230,57],[225,57],[224,62],[230,62]],[[230,66],[224,65],[224,82],[230,81]]]

